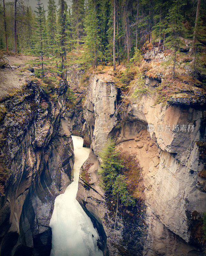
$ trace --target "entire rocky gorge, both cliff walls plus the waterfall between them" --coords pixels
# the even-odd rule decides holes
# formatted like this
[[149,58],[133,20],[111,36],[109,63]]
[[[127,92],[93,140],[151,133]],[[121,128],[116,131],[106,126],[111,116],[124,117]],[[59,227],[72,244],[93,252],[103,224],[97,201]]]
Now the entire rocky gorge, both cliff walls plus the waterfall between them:
[[[12,172],[1,197],[0,254],[84,255],[78,242],[83,238],[78,240],[77,233],[84,230],[85,222],[92,229],[84,231],[84,239],[96,246],[88,255],[204,256],[205,247],[198,244],[195,232],[206,209],[205,92],[194,87],[184,92],[187,97],[175,94],[169,104],[155,104],[160,81],[145,75],[150,95],[120,112],[120,90],[112,77],[91,72],[84,87],[80,85],[83,73],[80,64],[72,65],[69,82],[61,80],[56,88],[55,101],[32,80],[1,100],[0,108],[5,110],[0,121],[1,150]],[[66,107],[68,86],[77,97],[74,108]],[[167,126],[173,129],[163,129]],[[80,159],[74,168],[76,177],[72,135],[83,138],[87,151],[76,156]],[[98,172],[109,138],[141,167],[142,200],[135,206],[121,206],[116,218],[117,202],[105,196]],[[76,192],[70,199],[73,186],[79,203]],[[138,188],[134,193],[139,193]],[[78,214],[80,231],[66,224],[74,223]],[[69,254],[75,243],[80,251],[75,254],[71,249]]]

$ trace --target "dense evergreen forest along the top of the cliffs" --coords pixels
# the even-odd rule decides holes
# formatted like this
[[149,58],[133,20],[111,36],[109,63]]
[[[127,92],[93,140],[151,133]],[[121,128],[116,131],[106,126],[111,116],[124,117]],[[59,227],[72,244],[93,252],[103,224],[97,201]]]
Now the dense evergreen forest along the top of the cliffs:
[[44,6],[36,0],[33,11],[28,1],[1,0],[1,53],[36,56],[40,76],[49,62],[66,78],[73,51],[80,63],[111,64],[115,70],[115,64],[138,61],[142,46],[154,55],[158,47],[172,49],[174,77],[176,52],[184,52],[182,39],[189,39],[194,75],[204,69],[204,60],[196,60],[205,49],[204,0],[72,0],[70,5],[48,0]]

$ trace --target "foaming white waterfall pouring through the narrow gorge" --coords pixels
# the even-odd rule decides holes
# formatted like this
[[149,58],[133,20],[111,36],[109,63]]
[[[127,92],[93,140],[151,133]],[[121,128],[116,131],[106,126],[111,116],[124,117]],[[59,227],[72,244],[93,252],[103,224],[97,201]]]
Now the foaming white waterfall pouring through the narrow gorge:
[[50,220],[52,249],[50,256],[103,256],[97,247],[98,234],[92,221],[76,200],[81,165],[89,155],[83,139],[72,136],[74,145],[74,181],[57,196]]

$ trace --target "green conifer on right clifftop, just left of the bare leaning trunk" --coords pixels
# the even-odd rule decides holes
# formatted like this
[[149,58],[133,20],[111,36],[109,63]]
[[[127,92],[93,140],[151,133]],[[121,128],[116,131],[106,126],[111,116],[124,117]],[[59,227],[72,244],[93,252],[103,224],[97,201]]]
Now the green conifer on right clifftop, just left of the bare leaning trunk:
[[168,28],[166,29],[166,33],[169,34],[167,37],[167,46],[174,47],[174,60],[173,60],[173,68],[172,68],[172,79],[174,79],[175,72],[175,64],[176,64],[176,54],[180,47],[181,40],[179,39],[180,35],[185,33],[185,28],[182,24],[183,14],[182,14],[182,6],[186,3],[182,0],[174,0],[172,7],[169,9],[168,14]]

